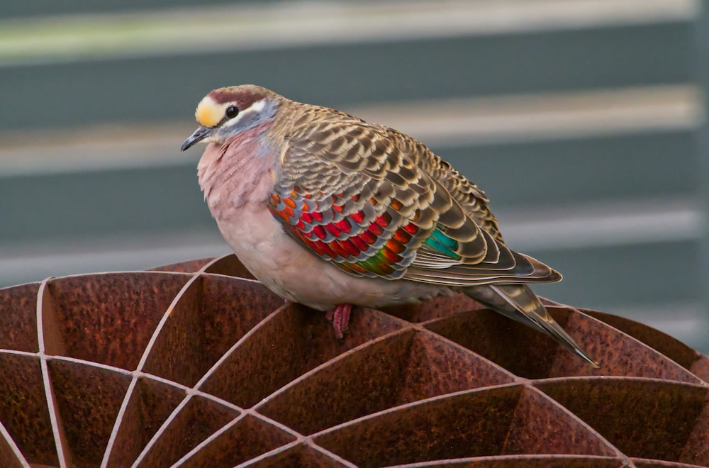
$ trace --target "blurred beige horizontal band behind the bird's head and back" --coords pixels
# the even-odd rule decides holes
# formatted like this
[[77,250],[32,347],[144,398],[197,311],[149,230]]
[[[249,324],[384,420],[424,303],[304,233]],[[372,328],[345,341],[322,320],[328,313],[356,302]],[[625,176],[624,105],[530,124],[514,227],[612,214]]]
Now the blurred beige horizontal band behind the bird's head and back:
[[[704,113],[703,96],[691,85],[407,101],[342,110],[437,148],[692,129]],[[0,177],[196,164],[199,149],[179,152],[194,128],[196,123],[183,121],[0,134]]]

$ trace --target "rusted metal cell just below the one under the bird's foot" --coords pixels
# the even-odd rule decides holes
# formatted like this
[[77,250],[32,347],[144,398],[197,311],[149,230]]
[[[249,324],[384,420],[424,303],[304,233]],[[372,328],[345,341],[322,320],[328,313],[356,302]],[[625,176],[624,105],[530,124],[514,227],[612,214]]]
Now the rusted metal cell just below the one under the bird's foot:
[[450,345],[444,353],[436,338],[420,335],[406,330],[347,352],[269,397],[257,410],[309,434],[403,403],[512,381],[471,353]]

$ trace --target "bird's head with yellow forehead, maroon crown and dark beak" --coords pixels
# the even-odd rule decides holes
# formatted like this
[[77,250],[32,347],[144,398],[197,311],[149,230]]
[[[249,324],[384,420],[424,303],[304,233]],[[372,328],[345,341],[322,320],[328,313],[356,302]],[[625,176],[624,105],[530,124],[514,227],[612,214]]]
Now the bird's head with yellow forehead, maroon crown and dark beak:
[[280,96],[253,84],[211,91],[197,105],[200,127],[182,143],[182,151],[201,141],[223,144],[229,138],[273,118]]

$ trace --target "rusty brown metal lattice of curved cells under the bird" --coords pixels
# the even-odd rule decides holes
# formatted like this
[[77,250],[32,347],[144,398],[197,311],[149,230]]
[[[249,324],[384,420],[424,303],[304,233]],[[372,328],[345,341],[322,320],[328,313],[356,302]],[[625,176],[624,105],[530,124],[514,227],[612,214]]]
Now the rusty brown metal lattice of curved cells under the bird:
[[547,301],[323,313],[227,255],[0,289],[0,466],[709,466],[709,358]]

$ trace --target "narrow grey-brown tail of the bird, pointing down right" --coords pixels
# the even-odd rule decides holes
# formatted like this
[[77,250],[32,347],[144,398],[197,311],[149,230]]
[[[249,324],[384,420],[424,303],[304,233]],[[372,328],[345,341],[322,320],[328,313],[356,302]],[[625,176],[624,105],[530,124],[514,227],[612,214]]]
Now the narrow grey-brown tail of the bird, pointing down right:
[[567,350],[579,355],[593,367],[598,367],[598,362],[588,356],[579,343],[554,321],[537,295],[526,284],[486,284],[471,286],[463,291],[503,316],[546,333]]

